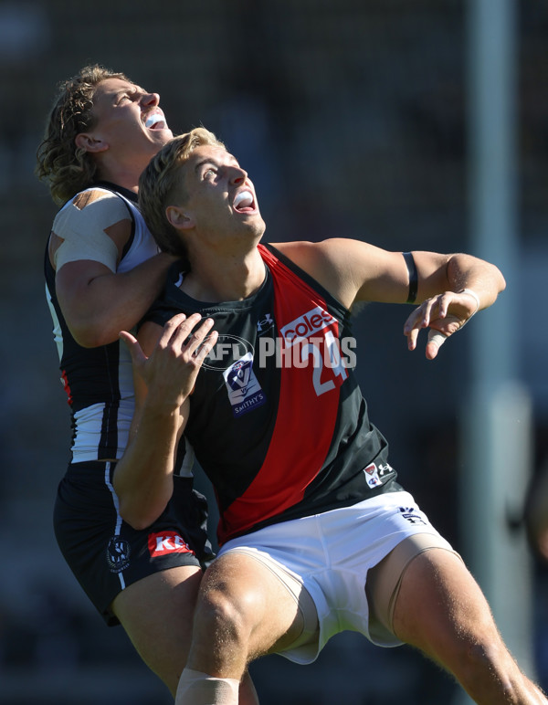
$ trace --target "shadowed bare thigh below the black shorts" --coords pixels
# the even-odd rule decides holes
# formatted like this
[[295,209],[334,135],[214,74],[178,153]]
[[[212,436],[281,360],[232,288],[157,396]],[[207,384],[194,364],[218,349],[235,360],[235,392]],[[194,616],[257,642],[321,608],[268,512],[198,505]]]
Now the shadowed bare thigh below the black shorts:
[[188,656],[202,575],[195,565],[169,568],[129,585],[112,603],[133,646],[172,692]]

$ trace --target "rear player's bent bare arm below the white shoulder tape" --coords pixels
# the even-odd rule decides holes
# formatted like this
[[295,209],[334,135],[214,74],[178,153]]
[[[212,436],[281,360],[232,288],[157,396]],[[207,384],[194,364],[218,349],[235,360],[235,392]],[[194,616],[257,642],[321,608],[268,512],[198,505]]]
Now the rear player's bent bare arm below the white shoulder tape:
[[78,303],[68,302],[64,311],[75,340],[97,347],[118,340],[119,331],[132,330],[161,293],[173,261],[161,254],[128,272],[91,279]]

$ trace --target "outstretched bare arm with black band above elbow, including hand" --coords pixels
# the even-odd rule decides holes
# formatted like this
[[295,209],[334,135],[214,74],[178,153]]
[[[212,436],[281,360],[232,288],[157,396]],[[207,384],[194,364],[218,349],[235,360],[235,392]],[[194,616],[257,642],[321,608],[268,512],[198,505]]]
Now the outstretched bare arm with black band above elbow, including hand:
[[280,244],[279,249],[311,274],[348,309],[356,301],[419,303],[406,320],[409,350],[429,328],[427,358],[476,311],[488,308],[506,284],[483,259],[437,252],[391,252],[359,240]]

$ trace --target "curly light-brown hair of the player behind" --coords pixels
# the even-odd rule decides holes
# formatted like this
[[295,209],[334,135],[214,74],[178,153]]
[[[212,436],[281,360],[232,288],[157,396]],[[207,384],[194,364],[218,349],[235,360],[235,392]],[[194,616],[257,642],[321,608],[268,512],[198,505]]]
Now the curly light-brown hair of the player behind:
[[76,76],[58,85],[58,95],[49,112],[46,130],[37,149],[38,179],[47,183],[58,205],[93,183],[96,163],[86,150],[76,146],[79,132],[93,129],[93,98],[101,81],[121,79],[132,83],[123,73],[99,64],[79,70]]

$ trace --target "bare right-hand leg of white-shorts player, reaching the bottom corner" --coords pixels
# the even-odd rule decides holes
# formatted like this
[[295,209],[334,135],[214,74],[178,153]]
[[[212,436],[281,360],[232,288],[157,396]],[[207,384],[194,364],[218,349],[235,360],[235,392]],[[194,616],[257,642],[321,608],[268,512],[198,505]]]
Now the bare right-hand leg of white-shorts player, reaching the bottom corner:
[[454,553],[432,549],[409,564],[394,631],[447,668],[479,705],[548,703],[511,657],[479,585]]

